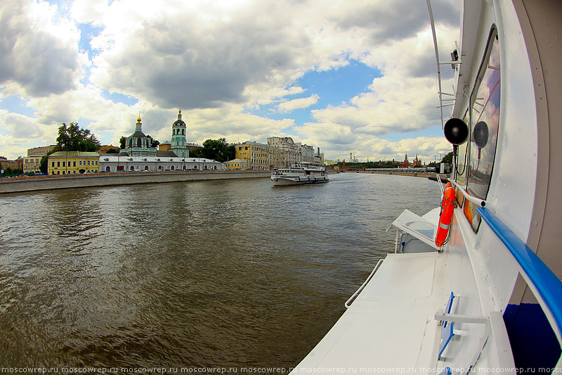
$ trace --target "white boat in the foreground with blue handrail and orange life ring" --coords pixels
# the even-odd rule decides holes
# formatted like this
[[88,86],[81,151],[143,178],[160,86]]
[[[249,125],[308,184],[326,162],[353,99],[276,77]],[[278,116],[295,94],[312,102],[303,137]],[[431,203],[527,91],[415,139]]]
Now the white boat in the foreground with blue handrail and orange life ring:
[[294,374],[562,371],[560,15],[555,0],[464,1],[453,61],[437,57],[455,66],[439,88],[454,103],[443,207],[393,222],[394,253]]

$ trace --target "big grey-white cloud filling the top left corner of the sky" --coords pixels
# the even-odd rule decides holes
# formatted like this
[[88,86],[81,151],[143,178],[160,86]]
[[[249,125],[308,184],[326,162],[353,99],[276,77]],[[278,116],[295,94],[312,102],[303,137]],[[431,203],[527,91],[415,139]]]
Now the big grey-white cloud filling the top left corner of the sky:
[[0,84],[23,95],[48,96],[72,89],[78,80],[79,32],[74,23],[55,18],[48,3],[4,0],[0,5]]

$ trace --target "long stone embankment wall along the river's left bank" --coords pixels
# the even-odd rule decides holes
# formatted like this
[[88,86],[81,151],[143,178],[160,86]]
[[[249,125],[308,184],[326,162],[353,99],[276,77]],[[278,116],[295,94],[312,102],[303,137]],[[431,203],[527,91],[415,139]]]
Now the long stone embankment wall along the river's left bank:
[[103,172],[56,176],[18,177],[0,180],[1,193],[21,193],[52,189],[85,188],[164,182],[204,181],[212,179],[246,179],[269,177],[269,171],[166,171],[166,172]]

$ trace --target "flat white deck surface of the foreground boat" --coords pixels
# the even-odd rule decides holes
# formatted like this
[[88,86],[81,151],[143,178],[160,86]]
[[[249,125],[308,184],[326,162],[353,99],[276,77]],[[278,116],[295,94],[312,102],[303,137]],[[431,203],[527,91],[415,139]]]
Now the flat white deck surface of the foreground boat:
[[447,302],[443,259],[440,253],[387,255],[293,374],[435,374],[430,369],[440,338],[435,314]]

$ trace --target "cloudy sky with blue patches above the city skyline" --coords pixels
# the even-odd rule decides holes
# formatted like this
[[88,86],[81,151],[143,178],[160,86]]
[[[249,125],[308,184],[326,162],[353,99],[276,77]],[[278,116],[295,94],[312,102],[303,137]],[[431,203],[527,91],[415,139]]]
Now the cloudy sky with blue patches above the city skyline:
[[[458,1],[433,0],[440,58]],[[442,68],[450,91],[452,69]],[[188,141],[292,136],[327,159],[450,151],[423,0],[2,0],[0,155],[78,122],[102,144],[161,142],[181,106]],[[447,115],[445,110],[445,116]]]

